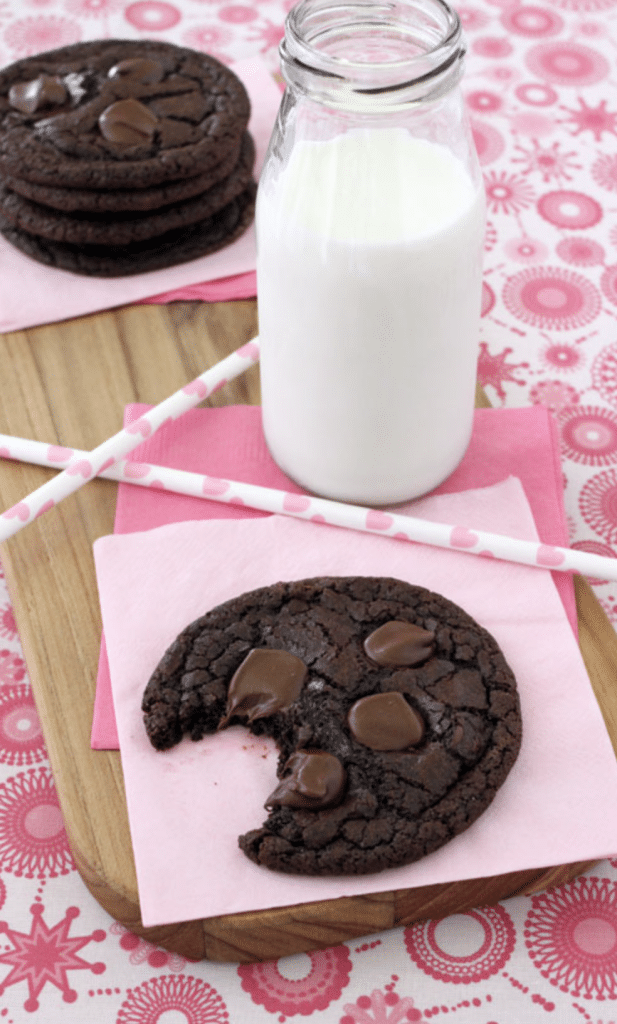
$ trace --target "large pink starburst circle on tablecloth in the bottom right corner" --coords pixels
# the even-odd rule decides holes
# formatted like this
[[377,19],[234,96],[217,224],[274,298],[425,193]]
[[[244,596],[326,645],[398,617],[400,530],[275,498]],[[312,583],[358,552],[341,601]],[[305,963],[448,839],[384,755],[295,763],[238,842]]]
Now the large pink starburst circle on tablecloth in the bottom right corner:
[[525,945],[543,978],[576,997],[617,998],[617,886],[583,878],[532,897]]

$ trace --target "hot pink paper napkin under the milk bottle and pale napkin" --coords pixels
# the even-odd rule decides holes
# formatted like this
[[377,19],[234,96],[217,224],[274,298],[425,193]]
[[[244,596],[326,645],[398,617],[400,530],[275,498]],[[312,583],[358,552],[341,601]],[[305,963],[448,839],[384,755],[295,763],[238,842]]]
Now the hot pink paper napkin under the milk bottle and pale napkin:
[[[125,420],[137,419],[144,408],[129,407]],[[283,490],[301,489],[270,458],[261,427],[261,410],[254,406],[192,410],[141,444],[133,458]],[[541,407],[478,410],[466,457],[436,494],[486,486],[511,474],[523,483],[540,539],[544,544],[567,545],[559,440],[552,417]],[[413,503],[409,508],[413,509]],[[121,483],[114,528],[116,534],[128,534],[185,519],[259,518],[266,514]],[[554,573],[554,579],[576,629],[572,581],[560,572]],[[104,640],[91,744],[97,750],[118,749]]]

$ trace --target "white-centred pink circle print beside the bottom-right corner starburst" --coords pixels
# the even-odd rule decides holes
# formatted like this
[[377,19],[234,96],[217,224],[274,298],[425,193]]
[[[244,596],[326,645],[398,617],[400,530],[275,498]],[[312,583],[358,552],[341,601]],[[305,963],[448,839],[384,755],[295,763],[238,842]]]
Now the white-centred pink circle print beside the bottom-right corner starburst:
[[512,918],[499,905],[405,929],[407,952],[437,981],[486,981],[510,959],[516,943]]

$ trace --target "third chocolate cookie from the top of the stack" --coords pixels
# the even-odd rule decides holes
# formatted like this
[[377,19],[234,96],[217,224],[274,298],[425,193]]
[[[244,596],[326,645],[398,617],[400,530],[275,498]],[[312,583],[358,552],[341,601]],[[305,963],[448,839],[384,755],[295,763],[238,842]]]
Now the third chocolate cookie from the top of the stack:
[[254,161],[255,146],[245,133],[240,157],[231,174],[200,196],[145,213],[64,213],[11,191],[1,180],[0,211],[13,228],[54,242],[130,246],[212,217],[246,190]]

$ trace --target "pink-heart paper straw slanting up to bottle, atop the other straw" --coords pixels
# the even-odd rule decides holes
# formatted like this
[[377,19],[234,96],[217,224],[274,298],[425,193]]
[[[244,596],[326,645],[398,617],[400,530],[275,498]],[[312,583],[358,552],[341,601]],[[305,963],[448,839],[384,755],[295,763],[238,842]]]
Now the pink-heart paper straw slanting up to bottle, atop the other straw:
[[146,437],[151,437],[164,423],[177,420],[227,381],[243,374],[258,359],[259,339],[254,338],[144,413],[134,423],[108,437],[92,452],[75,453],[61,473],[2,513],[0,542],[8,540],[33,519],[83,487],[88,480],[100,476],[103,470],[124,459]]

